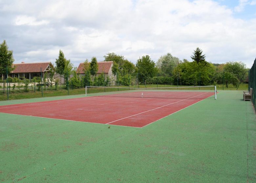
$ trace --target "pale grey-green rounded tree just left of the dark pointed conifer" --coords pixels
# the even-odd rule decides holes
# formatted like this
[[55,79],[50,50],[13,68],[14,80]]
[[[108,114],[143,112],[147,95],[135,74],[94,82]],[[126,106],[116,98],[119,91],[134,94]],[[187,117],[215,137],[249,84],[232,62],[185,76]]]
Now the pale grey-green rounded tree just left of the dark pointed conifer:
[[177,57],[173,57],[170,53],[161,56],[156,65],[160,70],[161,75],[171,76],[173,75],[173,70],[177,65],[181,63],[181,60]]

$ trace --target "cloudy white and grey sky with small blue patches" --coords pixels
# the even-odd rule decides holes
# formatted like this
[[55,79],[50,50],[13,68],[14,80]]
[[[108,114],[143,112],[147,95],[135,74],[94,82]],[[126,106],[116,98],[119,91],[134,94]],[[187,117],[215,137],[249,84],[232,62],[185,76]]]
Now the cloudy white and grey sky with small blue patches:
[[59,50],[74,66],[110,52],[191,61],[197,47],[212,63],[256,57],[256,0],[0,0],[0,23],[15,63],[55,63]]

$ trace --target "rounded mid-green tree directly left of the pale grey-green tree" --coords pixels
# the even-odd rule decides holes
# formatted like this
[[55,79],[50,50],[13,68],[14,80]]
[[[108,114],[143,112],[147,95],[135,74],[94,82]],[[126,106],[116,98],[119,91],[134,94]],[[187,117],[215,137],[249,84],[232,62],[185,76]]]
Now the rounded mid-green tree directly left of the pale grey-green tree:
[[155,62],[146,55],[139,58],[136,62],[138,73],[141,75],[139,81],[145,81],[145,79],[156,76],[158,69],[155,67]]

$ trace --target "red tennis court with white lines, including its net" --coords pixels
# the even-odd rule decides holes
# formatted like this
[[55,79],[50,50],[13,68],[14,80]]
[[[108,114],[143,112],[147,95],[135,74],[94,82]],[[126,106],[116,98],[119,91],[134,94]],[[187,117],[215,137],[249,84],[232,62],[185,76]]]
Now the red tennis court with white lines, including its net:
[[[211,88],[211,89],[209,89]],[[104,92],[102,93],[102,90]],[[106,90],[120,90],[105,92]],[[183,90],[181,90],[183,89]],[[213,86],[157,89],[91,87],[100,96],[0,106],[0,112],[79,122],[143,127],[215,95]],[[88,89],[89,92],[89,89]]]

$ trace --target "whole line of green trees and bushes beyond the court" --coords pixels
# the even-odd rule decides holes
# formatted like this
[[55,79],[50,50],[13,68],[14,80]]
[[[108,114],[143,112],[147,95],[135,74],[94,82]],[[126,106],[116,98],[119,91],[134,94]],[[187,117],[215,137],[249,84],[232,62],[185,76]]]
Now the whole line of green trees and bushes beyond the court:
[[[13,51],[8,50],[6,41],[0,45],[0,73],[8,74],[14,69],[12,64],[14,58]],[[70,59],[66,59],[62,50],[55,60],[55,72],[64,78],[65,86],[69,84],[75,88],[86,85],[106,86],[118,83],[120,85],[138,84],[170,84],[170,85],[211,85],[228,84],[238,86],[241,81],[248,77],[245,64],[243,62],[226,62],[224,64],[214,64],[206,61],[206,56],[200,48],[196,48],[192,53],[192,61],[180,60],[167,53],[160,56],[154,62],[150,56],[145,55],[137,59],[136,64],[116,53],[107,53],[104,61],[113,61],[112,73],[114,78],[105,77],[104,73],[96,77],[98,71],[97,58],[84,61],[84,76],[79,77],[76,67]],[[70,77],[73,75],[73,77]]]

